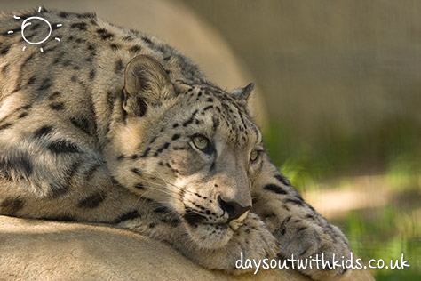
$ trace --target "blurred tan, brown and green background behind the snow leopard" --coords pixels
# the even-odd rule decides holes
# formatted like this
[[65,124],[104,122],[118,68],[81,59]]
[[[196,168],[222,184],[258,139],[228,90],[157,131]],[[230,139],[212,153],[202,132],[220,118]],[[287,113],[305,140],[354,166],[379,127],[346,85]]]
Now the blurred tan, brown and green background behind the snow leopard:
[[421,2],[6,1],[97,12],[160,36],[222,87],[257,84],[274,163],[377,280],[421,280]]

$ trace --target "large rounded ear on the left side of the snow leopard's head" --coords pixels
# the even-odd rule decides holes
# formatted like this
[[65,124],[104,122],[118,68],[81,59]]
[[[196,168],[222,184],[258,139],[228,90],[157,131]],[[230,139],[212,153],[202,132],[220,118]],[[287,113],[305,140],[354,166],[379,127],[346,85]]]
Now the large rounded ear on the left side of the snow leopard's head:
[[170,77],[158,60],[139,55],[127,64],[123,90],[123,109],[126,113],[144,116],[148,106],[159,106],[174,94]]

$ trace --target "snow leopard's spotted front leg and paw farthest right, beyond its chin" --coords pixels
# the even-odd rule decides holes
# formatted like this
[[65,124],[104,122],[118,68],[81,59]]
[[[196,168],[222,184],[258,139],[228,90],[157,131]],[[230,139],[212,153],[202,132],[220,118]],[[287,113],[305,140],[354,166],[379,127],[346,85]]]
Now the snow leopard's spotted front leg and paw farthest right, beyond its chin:
[[[263,156],[261,172],[252,182],[253,207],[252,212],[258,213],[266,225],[278,239],[280,247],[279,257],[288,259],[306,259],[321,257],[332,265],[335,259],[349,259],[351,249],[345,235],[317,213],[290,186],[290,182],[270,162],[266,154]],[[319,269],[313,264],[313,269],[298,269],[301,273],[316,280],[326,280],[338,277],[346,269]]]

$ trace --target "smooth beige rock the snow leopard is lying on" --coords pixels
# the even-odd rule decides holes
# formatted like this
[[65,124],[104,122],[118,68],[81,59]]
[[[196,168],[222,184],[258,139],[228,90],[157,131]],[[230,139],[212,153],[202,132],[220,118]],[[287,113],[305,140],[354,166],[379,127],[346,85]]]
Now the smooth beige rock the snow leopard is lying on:
[[[203,269],[171,246],[123,229],[0,216],[0,280],[308,281],[293,270],[238,277]],[[374,280],[353,270],[340,281]]]

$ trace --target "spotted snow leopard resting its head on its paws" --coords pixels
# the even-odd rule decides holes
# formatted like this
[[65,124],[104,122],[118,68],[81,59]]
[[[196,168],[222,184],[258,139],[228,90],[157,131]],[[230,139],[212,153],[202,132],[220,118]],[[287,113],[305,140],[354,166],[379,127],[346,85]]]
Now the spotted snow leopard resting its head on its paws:
[[41,14],[60,38],[44,52],[22,52],[20,20],[0,16],[1,214],[115,224],[229,272],[241,253],[349,256],[346,237],[266,156],[252,84],[226,92],[163,41],[91,13]]

